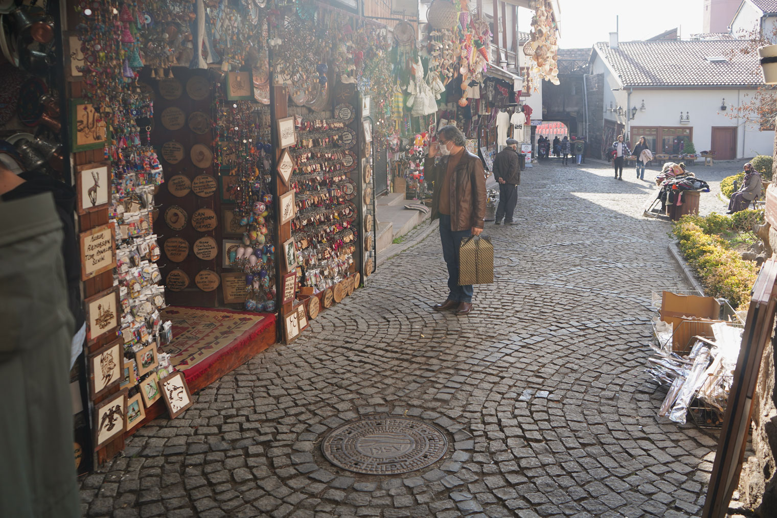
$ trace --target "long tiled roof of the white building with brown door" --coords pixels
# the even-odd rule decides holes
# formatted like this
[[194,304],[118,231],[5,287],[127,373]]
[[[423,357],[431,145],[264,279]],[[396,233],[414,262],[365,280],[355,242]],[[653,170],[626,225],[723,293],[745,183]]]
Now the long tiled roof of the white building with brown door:
[[[625,41],[611,49],[595,43],[624,86],[761,85],[755,53],[742,54],[742,40]],[[726,57],[709,62],[707,57]],[[730,58],[730,60],[729,60]]]

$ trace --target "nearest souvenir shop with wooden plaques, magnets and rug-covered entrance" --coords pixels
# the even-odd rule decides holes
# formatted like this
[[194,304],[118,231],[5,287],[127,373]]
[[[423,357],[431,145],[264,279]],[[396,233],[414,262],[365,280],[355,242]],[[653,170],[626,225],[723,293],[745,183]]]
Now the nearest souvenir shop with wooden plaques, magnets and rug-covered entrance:
[[18,39],[2,48],[0,146],[78,195],[86,336],[71,388],[89,471],[375,271],[392,41],[315,2],[63,12],[2,14]]

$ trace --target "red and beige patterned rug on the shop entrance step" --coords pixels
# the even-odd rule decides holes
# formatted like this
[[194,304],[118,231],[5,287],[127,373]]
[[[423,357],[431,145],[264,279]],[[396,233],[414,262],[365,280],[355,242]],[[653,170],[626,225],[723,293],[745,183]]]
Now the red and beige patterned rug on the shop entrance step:
[[162,349],[187,380],[275,322],[274,315],[230,309],[169,306],[161,313],[162,321],[172,322],[172,342]]

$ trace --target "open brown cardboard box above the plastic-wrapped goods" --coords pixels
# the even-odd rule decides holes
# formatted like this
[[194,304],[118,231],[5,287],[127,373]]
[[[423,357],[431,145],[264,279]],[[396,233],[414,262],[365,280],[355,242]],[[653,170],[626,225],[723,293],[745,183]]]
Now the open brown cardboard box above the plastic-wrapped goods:
[[712,339],[712,325],[720,318],[720,304],[713,297],[678,295],[664,291],[661,297],[661,320],[672,325],[672,350],[687,353],[694,336]]

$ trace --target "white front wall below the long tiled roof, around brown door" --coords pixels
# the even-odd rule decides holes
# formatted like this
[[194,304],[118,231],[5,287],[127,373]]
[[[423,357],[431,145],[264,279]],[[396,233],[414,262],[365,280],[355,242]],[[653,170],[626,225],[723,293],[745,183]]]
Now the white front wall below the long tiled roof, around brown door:
[[[637,111],[634,120],[629,120],[629,128],[632,126],[664,126],[664,127],[692,127],[693,144],[696,151],[702,151],[711,147],[713,126],[737,127],[737,157],[752,158],[754,155],[772,156],[774,151],[774,131],[758,130],[758,125],[744,123],[741,120],[731,119],[727,114],[731,113],[733,106],[745,103],[744,94],[753,90],[692,90],[692,89],[660,89],[640,90],[632,93],[632,104],[639,108],[642,99],[645,99],[645,111]],[[729,109],[720,110],[720,104],[726,98]],[[691,122],[680,123],[680,112],[688,112]],[[628,134],[627,130],[627,134]]]

